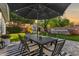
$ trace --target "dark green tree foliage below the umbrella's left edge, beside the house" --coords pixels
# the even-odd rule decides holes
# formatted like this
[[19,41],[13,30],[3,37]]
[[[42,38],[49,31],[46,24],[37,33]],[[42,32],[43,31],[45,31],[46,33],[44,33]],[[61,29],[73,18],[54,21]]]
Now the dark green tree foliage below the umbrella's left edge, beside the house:
[[34,20],[31,20],[31,19],[26,19],[24,17],[21,17],[21,16],[18,16],[16,15],[16,13],[14,12],[10,12],[10,19],[11,21],[14,21],[14,22],[20,22],[20,23],[34,23]]

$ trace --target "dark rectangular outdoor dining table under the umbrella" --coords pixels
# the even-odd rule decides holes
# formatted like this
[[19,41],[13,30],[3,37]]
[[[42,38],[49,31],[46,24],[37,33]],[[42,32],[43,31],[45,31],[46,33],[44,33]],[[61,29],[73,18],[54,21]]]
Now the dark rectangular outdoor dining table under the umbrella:
[[31,36],[30,40],[38,44],[39,56],[43,56],[43,46],[51,42],[54,43],[57,39],[47,36]]

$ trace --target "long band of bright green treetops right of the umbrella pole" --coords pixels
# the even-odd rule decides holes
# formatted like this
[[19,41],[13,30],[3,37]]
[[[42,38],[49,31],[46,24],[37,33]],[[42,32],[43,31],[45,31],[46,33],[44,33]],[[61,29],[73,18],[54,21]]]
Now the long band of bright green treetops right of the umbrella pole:
[[45,19],[44,21],[39,21],[39,24],[42,27],[48,27],[50,26],[51,28],[53,27],[64,27],[68,26],[71,24],[69,19],[62,18],[62,17],[56,17],[56,18],[51,18],[51,19]]

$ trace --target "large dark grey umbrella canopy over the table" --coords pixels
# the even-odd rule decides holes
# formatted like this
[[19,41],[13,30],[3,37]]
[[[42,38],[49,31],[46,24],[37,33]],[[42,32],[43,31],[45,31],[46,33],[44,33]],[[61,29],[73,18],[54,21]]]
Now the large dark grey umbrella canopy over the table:
[[27,19],[49,19],[63,15],[70,3],[8,3],[11,11]]

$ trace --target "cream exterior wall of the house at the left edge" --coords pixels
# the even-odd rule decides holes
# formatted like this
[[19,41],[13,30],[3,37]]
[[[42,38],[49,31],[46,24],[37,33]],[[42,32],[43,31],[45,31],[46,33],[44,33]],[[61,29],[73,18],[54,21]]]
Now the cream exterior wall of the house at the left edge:
[[6,34],[6,22],[9,21],[9,18],[7,3],[0,3],[0,34]]

